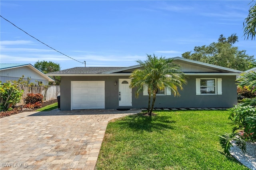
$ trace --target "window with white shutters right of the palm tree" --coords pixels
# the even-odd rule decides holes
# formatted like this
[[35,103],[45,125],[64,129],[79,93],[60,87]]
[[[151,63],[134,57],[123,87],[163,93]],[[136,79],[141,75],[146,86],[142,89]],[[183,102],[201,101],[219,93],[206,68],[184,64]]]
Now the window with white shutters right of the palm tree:
[[222,79],[196,79],[196,95],[222,95]]

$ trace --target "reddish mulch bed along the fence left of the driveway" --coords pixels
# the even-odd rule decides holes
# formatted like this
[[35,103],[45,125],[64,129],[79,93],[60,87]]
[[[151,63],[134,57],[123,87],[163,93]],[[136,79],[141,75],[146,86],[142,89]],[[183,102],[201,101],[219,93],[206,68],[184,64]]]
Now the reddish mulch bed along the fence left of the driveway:
[[[42,103],[41,107],[45,107],[47,105],[51,105],[51,104],[56,103],[56,102],[58,102],[57,99],[49,100],[49,101],[44,101]],[[10,115],[16,115],[16,114],[22,113],[22,112],[34,112],[37,109],[39,109],[39,108],[25,109],[25,108],[23,108],[23,105],[22,106],[16,106],[11,111],[0,112],[0,118],[7,117],[7,116],[10,116]]]

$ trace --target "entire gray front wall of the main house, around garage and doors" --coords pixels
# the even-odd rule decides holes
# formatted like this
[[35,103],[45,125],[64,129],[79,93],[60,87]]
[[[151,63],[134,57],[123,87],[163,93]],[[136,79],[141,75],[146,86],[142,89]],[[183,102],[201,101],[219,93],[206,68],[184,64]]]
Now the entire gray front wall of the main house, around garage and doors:
[[[105,81],[105,109],[118,108],[118,84],[114,81],[126,79],[129,76],[62,76],[60,88],[60,109],[71,109],[71,81]],[[222,95],[196,95],[196,78],[222,78]],[[154,107],[156,108],[175,108],[175,107],[233,107],[237,104],[236,76],[189,76],[188,84],[184,85],[184,90],[179,91],[180,97],[173,95],[156,96]],[[148,96],[141,95],[135,98],[135,89],[132,89],[132,107],[146,108]]]

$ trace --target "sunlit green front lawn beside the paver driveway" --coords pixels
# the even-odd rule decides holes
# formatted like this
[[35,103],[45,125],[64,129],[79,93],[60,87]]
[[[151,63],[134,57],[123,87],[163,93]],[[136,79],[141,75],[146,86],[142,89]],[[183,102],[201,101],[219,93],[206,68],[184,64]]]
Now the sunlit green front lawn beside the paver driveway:
[[245,170],[223,154],[228,111],[154,111],[108,123],[96,170]]

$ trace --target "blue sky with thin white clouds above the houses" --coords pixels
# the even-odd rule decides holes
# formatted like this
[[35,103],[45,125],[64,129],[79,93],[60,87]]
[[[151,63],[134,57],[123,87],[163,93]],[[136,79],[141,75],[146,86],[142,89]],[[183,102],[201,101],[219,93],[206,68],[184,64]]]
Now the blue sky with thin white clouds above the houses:
[[[195,46],[236,33],[239,50],[256,56],[244,40],[250,1],[4,1],[1,16],[86,67],[132,66],[146,54],[177,57]],[[0,20],[1,63],[52,61],[61,69],[84,67]]]

